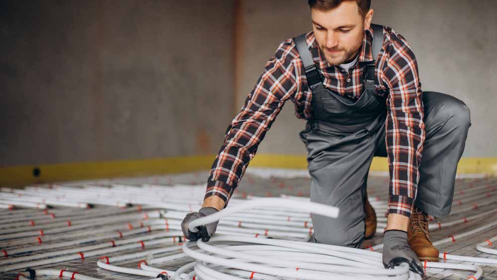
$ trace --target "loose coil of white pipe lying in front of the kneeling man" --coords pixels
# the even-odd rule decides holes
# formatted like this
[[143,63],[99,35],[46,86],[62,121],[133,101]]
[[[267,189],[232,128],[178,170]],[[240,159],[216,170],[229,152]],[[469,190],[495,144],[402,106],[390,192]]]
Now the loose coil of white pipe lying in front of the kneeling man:
[[[199,248],[208,251],[210,253],[215,253],[218,255],[221,254],[225,256],[225,258],[209,254],[203,254],[198,250],[197,251],[191,250],[189,247],[195,245],[195,243],[191,241],[184,243],[182,248],[183,252],[186,255],[197,260],[197,264],[199,263],[199,261],[202,261],[230,268],[245,270],[249,272],[252,271],[258,273],[264,273],[273,276],[282,276],[282,277],[291,277],[291,278],[309,279],[309,280],[322,280],[322,279],[330,279],[333,277],[345,280],[349,279],[357,280],[357,279],[364,279],[365,277],[374,274],[377,276],[383,276],[378,279],[387,279],[388,278],[387,276],[392,276],[392,275],[398,277],[388,278],[388,279],[421,279],[418,275],[416,277],[414,274],[409,273],[409,267],[407,264],[403,264],[392,270],[384,269],[383,264],[381,263],[380,253],[377,253],[376,260],[371,260],[369,258],[361,258],[361,253],[363,255],[366,254],[370,255],[370,253],[375,253],[375,252],[368,252],[360,249],[352,249],[355,250],[355,252],[350,254],[350,250],[348,249],[351,248],[346,248],[346,247],[337,248],[339,246],[311,244],[311,243],[302,243],[302,242],[299,242],[300,244],[297,244],[297,242],[294,243],[293,241],[284,241],[276,239],[256,239],[256,238],[234,237],[234,236],[213,236],[211,238],[211,241],[209,241],[209,243],[211,242],[216,243],[220,241],[221,242],[237,241],[237,242],[247,242],[252,244],[254,243],[266,244],[273,246],[275,251],[277,251],[279,247],[289,247],[294,249],[300,249],[303,252],[315,253],[317,254],[317,256],[334,255],[334,256],[345,257],[347,259],[356,259],[356,260],[358,259],[360,260],[359,262],[357,262],[359,267],[363,267],[364,265],[369,265],[370,268],[344,267],[343,265],[339,265],[340,261],[339,259],[337,260],[337,263],[335,265],[329,265],[329,264],[312,263],[307,261],[289,261],[289,260],[281,260],[278,258],[253,256],[251,254],[249,255],[237,252],[230,252],[229,250],[224,250],[222,248],[217,248],[215,246],[208,245],[202,242],[201,240],[197,241],[196,243],[197,246],[199,246]],[[349,254],[344,252],[347,252]],[[251,260],[251,262],[235,261],[233,259],[227,259],[226,257],[239,258],[248,261]],[[258,264],[261,262],[269,265],[272,264],[273,266]],[[375,263],[376,268],[373,265],[367,263]],[[195,269],[195,271],[197,271],[197,269]],[[354,274],[354,275],[359,274],[359,276],[351,276],[351,275],[346,276],[343,275],[344,273]],[[227,279],[227,278],[215,278],[215,279]]]

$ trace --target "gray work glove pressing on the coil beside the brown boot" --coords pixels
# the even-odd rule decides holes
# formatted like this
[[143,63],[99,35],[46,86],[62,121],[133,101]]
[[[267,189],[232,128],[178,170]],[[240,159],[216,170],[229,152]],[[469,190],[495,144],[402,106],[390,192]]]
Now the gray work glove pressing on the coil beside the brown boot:
[[402,230],[387,230],[383,234],[383,265],[393,269],[401,263],[407,263],[409,268],[421,277],[424,271],[416,253],[409,247],[407,232]]

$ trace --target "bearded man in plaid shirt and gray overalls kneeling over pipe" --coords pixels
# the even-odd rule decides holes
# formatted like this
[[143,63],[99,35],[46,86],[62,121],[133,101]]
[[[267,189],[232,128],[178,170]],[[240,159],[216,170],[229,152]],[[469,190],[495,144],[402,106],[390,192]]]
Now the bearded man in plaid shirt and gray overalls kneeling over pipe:
[[[318,243],[360,248],[374,235],[376,214],[366,181],[373,156],[388,156],[390,186],[383,263],[438,261],[427,214],[448,215],[457,163],[470,123],[466,105],[422,92],[413,51],[390,27],[371,25],[370,0],[309,0],[313,31],[284,41],[268,61],[213,164],[199,212],[183,232],[208,240],[217,223],[197,233],[188,223],[226,207],[257,145],[286,100],[307,119],[311,201],[336,206],[330,219],[313,215]],[[422,161],[421,161],[422,158]],[[416,256],[417,255],[417,256]]]

